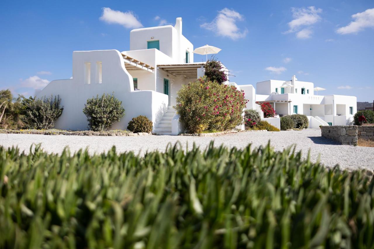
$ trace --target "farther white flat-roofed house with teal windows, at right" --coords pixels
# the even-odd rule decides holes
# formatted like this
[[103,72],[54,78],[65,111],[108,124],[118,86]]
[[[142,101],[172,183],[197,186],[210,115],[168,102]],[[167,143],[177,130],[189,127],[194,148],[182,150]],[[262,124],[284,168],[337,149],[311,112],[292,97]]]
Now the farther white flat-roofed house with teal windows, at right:
[[[309,119],[309,128],[320,125],[346,125],[353,123],[357,112],[357,98],[343,95],[314,95],[314,84],[292,76],[291,80],[266,80],[252,85],[239,86],[250,101],[248,109],[261,112],[260,105],[269,102],[279,116],[304,114]],[[258,103],[258,104],[257,104]],[[270,122],[276,120],[266,119]]]

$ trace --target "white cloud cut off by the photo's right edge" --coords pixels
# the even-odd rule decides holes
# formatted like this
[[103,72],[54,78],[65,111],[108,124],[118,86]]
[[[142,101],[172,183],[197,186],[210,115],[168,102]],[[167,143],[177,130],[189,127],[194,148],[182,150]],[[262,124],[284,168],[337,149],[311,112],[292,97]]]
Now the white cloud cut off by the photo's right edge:
[[355,21],[350,22],[347,26],[338,28],[336,33],[338,34],[351,34],[358,33],[364,30],[364,28],[374,27],[374,8],[367,9],[364,12],[356,13],[352,15],[352,19]]

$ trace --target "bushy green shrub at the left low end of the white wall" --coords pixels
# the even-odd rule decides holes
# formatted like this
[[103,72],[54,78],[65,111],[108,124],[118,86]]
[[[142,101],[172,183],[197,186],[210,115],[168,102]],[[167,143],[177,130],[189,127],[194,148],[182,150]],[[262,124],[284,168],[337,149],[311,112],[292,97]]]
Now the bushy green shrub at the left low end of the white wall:
[[61,116],[61,98],[59,95],[51,95],[38,99],[36,97],[22,98],[21,113],[22,121],[27,129],[51,129],[56,120]]

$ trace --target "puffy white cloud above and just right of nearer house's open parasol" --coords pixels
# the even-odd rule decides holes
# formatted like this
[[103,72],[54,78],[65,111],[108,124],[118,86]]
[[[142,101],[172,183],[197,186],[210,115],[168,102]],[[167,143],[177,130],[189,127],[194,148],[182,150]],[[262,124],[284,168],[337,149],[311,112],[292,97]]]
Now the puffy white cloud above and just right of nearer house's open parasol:
[[233,9],[224,8],[218,11],[218,15],[212,22],[205,22],[200,25],[201,28],[216,32],[218,36],[229,37],[232,40],[243,38],[247,35],[248,30],[240,30],[237,27],[237,21],[243,21],[243,15],[240,15]]

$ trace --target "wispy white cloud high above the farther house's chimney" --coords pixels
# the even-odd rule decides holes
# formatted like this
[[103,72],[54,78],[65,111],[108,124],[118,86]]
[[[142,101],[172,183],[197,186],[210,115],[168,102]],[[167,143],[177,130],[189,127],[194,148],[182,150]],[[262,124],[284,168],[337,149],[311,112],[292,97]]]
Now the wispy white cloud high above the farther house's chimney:
[[289,30],[285,33],[296,33],[298,39],[310,38],[313,33],[310,26],[321,20],[319,13],[322,12],[322,9],[309,6],[307,8],[291,8],[291,12],[294,19],[288,23]]

